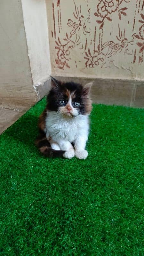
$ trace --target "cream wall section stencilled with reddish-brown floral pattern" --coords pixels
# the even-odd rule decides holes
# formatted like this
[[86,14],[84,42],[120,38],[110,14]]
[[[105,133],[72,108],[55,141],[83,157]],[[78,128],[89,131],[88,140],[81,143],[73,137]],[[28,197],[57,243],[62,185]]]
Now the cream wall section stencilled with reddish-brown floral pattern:
[[144,0],[47,0],[52,74],[144,79]]

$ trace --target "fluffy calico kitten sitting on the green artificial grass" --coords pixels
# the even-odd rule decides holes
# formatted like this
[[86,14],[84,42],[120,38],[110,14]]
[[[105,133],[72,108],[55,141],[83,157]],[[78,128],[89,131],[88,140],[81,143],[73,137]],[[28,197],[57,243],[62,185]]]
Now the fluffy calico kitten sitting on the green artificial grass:
[[[76,83],[61,83],[52,79],[47,106],[39,117],[40,135],[36,140],[47,157],[64,156],[85,159],[92,103],[89,92],[92,83],[84,87]],[[74,147],[73,147],[74,146]]]

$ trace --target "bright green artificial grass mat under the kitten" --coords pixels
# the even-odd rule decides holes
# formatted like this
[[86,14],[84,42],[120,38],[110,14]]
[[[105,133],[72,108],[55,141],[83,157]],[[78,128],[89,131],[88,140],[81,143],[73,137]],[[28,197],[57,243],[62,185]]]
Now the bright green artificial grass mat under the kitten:
[[88,158],[48,159],[44,106],[0,136],[0,255],[143,255],[144,110],[93,105]]

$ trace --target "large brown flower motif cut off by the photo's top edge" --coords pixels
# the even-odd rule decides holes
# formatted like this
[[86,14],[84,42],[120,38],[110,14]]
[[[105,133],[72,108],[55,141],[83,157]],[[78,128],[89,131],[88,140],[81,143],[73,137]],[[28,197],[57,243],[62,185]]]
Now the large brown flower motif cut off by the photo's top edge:
[[120,4],[124,1],[129,3],[130,1],[126,0],[99,0],[99,4],[97,5],[97,12],[94,13],[95,16],[102,18],[102,20],[96,20],[97,23],[101,24],[100,29],[103,28],[105,19],[112,21],[112,19],[108,16],[112,12],[118,11],[119,20],[121,20],[121,14],[126,16],[125,10],[127,7],[119,9]]

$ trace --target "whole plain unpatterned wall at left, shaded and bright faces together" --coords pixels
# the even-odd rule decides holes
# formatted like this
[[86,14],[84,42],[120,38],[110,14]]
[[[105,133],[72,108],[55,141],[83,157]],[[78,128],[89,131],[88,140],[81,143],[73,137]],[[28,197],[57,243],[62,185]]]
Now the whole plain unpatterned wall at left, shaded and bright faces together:
[[0,1],[0,107],[28,109],[50,74],[45,0]]

